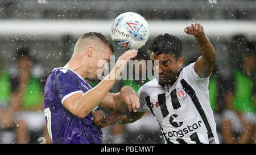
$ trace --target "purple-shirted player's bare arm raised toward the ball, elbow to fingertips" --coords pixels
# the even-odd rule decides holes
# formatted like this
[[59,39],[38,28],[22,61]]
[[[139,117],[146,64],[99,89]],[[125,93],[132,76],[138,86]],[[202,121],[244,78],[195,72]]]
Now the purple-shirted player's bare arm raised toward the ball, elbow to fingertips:
[[115,63],[115,67],[110,74],[108,74],[96,87],[90,89],[90,91],[86,93],[73,94],[63,102],[63,106],[79,118],[86,117],[102,102],[102,100],[104,100],[106,94],[108,94],[118,76],[120,76],[123,67],[130,59],[136,57],[137,53],[137,50],[126,51],[118,58],[117,63]]

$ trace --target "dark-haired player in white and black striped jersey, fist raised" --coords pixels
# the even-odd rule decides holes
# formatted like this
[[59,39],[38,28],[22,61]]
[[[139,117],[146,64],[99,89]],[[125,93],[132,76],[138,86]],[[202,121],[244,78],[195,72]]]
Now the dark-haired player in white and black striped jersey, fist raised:
[[159,61],[159,76],[139,89],[141,107],[137,113],[103,117],[97,111],[96,124],[131,123],[150,110],[167,143],[219,143],[208,91],[215,51],[200,24],[191,24],[184,31],[195,36],[202,56],[183,68],[179,38],[168,34],[156,37],[150,56]]

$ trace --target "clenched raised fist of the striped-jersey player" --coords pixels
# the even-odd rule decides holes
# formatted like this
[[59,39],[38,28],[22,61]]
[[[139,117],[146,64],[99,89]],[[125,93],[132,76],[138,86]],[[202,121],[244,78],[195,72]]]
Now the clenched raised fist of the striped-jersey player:
[[184,29],[184,32],[187,33],[188,35],[194,35],[195,37],[203,36],[204,28],[201,24],[193,23],[191,25],[188,25],[188,27]]

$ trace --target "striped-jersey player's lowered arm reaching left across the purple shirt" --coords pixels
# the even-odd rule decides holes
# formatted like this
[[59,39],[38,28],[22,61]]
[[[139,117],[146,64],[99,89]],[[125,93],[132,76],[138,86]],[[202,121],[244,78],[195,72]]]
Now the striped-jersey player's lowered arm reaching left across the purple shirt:
[[100,127],[106,127],[113,124],[127,124],[133,123],[138,119],[141,119],[146,112],[129,112],[126,113],[112,113],[108,116],[104,116],[100,111],[95,111],[93,113],[93,122]]

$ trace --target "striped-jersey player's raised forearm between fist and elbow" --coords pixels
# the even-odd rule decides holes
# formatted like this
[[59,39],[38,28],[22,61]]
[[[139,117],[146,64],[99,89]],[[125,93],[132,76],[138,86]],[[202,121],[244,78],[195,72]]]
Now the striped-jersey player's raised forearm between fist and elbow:
[[199,46],[202,57],[208,63],[214,63],[216,61],[216,53],[213,49],[212,44],[205,35],[196,36],[197,45]]

